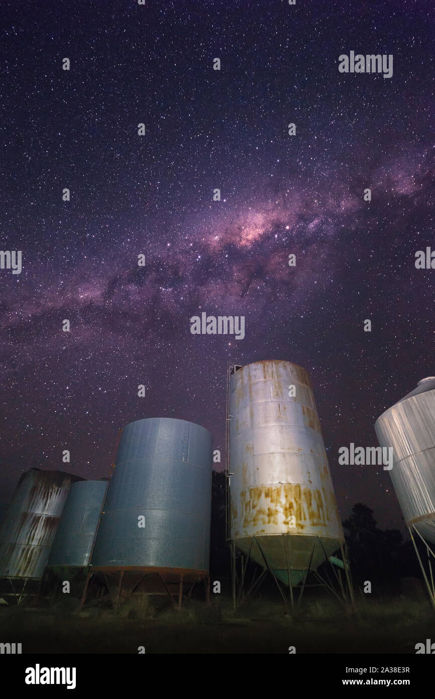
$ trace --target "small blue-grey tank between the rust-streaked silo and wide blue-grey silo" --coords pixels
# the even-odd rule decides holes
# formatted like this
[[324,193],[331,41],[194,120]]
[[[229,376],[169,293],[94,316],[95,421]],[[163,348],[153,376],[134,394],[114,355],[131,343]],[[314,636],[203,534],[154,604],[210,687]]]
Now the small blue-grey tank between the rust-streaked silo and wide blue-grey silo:
[[107,481],[73,483],[54,537],[47,566],[89,565]]

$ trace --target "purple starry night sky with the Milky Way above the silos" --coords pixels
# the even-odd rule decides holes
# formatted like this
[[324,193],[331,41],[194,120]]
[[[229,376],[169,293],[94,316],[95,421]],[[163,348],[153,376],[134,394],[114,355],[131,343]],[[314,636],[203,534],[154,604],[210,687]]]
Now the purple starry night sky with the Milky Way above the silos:
[[[202,424],[223,466],[228,362],[285,359],[311,375],[341,516],[400,526],[388,473],[338,449],[377,446],[435,374],[435,271],[414,264],[435,249],[432,0],[1,14],[1,249],[22,250],[0,270],[1,505],[31,466],[108,475],[142,417]],[[392,54],[392,78],[339,73],[351,50]],[[193,336],[202,311],[243,315],[244,339]]]

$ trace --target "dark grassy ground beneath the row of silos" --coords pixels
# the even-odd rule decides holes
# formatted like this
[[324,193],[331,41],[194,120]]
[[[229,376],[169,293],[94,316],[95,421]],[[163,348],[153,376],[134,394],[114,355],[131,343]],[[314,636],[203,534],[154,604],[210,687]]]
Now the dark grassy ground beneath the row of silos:
[[0,607],[1,641],[22,642],[23,653],[414,653],[435,638],[435,612],[426,598],[357,600],[349,615],[328,597],[304,600],[290,614],[280,600],[258,597],[233,609],[213,596],[186,600],[181,611],[165,598],[133,597],[117,610],[62,598],[52,607]]

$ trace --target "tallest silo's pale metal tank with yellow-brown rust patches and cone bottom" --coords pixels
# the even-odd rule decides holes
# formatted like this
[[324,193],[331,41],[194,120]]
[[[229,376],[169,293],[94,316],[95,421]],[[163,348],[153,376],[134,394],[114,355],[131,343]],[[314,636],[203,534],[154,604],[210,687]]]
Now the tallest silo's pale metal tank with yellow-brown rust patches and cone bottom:
[[230,380],[230,415],[231,536],[288,583],[286,539],[297,584],[311,555],[316,568],[344,541],[307,372],[287,361],[244,366]]

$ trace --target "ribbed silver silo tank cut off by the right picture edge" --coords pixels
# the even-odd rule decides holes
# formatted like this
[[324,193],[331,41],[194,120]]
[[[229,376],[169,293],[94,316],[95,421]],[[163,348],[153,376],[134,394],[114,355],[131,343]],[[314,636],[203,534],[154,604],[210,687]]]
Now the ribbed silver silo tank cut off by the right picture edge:
[[381,447],[392,447],[389,471],[406,524],[435,543],[435,380],[428,377],[375,424]]

